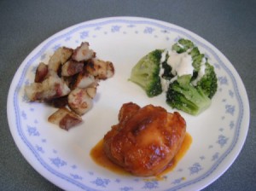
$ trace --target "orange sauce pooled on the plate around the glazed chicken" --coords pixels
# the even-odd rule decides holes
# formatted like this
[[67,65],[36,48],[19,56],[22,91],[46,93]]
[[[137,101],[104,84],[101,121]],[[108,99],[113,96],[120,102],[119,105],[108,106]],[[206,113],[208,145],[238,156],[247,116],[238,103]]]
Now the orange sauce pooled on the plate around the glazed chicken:
[[[166,168],[166,170],[162,171],[159,175],[155,177],[157,180],[162,180],[163,179],[162,177],[167,172],[170,172],[175,168],[178,161],[182,159],[185,153],[189,150],[191,143],[192,143],[192,136],[190,136],[189,133],[187,132],[181,148],[179,149],[175,157],[172,159],[171,165],[169,165]],[[108,159],[108,157],[105,155],[103,151],[103,139],[100,142],[98,142],[94,148],[91,149],[90,156],[96,162],[97,165],[101,165],[102,167],[107,168],[109,171],[113,171],[120,175],[131,175],[131,173],[125,171],[119,165],[113,164],[113,162],[111,162]]]

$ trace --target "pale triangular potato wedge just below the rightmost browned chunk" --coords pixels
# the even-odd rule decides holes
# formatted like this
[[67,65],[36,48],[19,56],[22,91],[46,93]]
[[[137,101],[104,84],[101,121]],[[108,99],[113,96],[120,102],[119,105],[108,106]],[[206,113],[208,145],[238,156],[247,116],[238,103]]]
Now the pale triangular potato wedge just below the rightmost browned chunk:
[[96,87],[98,85],[98,80],[94,78],[89,72],[79,72],[78,77],[73,83],[74,88],[87,88],[87,87]]

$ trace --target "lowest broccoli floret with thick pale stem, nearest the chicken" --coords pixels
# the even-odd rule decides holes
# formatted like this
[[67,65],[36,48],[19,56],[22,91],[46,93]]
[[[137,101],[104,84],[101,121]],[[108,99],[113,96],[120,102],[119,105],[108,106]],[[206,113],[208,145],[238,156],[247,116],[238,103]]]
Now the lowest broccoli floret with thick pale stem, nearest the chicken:
[[178,77],[169,85],[166,92],[166,102],[169,106],[185,113],[198,115],[211,105],[211,99],[201,90],[190,84],[190,77]]

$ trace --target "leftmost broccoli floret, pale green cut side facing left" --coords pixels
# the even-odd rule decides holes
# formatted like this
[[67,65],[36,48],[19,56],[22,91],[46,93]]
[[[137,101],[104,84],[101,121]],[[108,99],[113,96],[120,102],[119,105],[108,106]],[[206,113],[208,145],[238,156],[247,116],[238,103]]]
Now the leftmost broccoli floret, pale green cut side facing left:
[[148,97],[158,96],[162,92],[160,82],[160,59],[163,50],[155,49],[137,62],[131,70],[130,80],[140,85]]

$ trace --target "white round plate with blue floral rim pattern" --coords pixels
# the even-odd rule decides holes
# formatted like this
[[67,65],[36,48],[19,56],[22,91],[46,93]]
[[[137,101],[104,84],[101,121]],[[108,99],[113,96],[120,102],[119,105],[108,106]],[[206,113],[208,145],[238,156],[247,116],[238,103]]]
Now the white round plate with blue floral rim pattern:
[[[90,149],[113,124],[119,108],[133,101],[165,107],[165,96],[148,98],[131,83],[131,67],[153,49],[171,47],[178,38],[189,38],[207,55],[218,76],[218,92],[212,106],[200,116],[182,113],[193,137],[189,151],[175,169],[161,180],[119,175],[90,158]],[[55,108],[28,102],[24,86],[33,81],[40,61],[49,61],[61,46],[75,48],[81,42],[105,61],[113,61],[113,78],[101,81],[94,106],[83,116],[84,123],[69,131],[47,122]],[[198,190],[207,187],[226,171],[240,153],[249,124],[247,92],[236,69],[211,43],[193,32],[160,20],[113,17],[71,26],[39,44],[15,73],[7,107],[9,128],[26,160],[50,182],[66,190]]]

